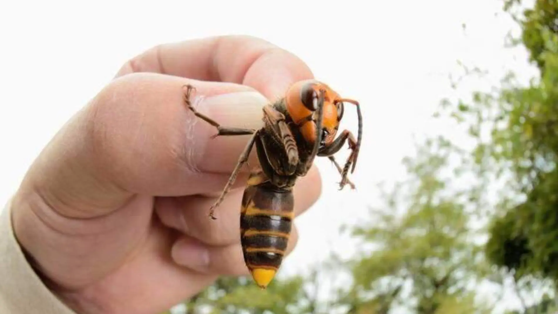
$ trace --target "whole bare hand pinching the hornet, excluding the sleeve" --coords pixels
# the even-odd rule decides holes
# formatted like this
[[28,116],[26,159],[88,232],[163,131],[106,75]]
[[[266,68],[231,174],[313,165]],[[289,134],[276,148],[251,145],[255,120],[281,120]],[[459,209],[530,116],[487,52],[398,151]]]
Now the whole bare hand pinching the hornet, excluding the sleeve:
[[[194,85],[201,113],[256,129],[268,99],[309,78],[294,55],[243,36],[161,45],[126,63],[46,146],[13,198],[17,239],[47,286],[78,313],[152,314],[219,275],[247,275],[246,170],[217,220],[208,214],[249,136],[211,140],[214,127],[185,108],[182,86]],[[296,214],[320,191],[313,168],[295,188]],[[294,229],[288,251],[296,239]]]

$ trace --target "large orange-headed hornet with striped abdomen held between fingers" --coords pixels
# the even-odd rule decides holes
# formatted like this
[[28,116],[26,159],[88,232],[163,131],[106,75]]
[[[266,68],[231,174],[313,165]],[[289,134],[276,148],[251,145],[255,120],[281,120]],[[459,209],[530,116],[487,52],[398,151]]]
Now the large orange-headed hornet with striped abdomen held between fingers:
[[[285,97],[263,107],[261,129],[241,129],[222,126],[197,112],[190,102],[194,87],[184,85],[186,107],[195,116],[217,128],[217,136],[251,135],[240,155],[223,192],[211,206],[209,216],[229,192],[240,169],[248,161],[256,146],[259,167],[252,170],[244,189],[240,211],[240,241],[244,262],[252,278],[266,288],[280,267],[294,219],[292,189],[297,178],[310,170],[316,156],[327,156],[341,175],[339,189],[346,184],[354,188],[347,178],[353,173],[362,140],[362,114],[357,101],[341,98],[328,85],[316,80],[303,80],[288,89]],[[344,130],[335,138],[343,118],[344,103],[357,107],[358,136]],[[334,154],[348,142],[351,150],[343,168]]]

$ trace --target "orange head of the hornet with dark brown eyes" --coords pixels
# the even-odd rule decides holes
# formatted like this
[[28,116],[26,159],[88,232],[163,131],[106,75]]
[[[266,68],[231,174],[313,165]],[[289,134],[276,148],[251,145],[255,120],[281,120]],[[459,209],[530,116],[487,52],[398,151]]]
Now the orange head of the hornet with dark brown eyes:
[[[302,80],[288,89],[285,103],[287,112],[299,126],[304,139],[313,144],[316,140],[316,122],[320,90],[324,91],[323,135],[320,146],[327,146],[335,139],[339,121],[343,118],[343,102],[338,93],[316,80]],[[314,120],[313,120],[314,119]]]

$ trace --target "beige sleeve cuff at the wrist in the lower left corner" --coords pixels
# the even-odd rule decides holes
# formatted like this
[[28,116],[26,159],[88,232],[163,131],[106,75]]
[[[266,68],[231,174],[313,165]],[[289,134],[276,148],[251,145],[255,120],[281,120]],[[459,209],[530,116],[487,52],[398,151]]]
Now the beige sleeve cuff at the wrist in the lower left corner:
[[11,206],[0,213],[0,313],[76,314],[42,283],[18,244]]

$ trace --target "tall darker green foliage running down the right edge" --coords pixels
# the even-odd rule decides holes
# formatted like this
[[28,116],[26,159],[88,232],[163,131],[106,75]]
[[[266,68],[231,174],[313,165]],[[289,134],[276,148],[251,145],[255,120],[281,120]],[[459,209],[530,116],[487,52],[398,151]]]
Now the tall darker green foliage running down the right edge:
[[[504,9],[511,11],[520,2],[506,1]],[[540,75],[525,86],[510,73],[498,87],[456,101],[450,116],[469,123],[482,175],[507,180],[497,206],[502,213],[490,226],[488,258],[518,278],[543,275],[556,282],[558,2],[536,0],[516,18],[521,42]]]

